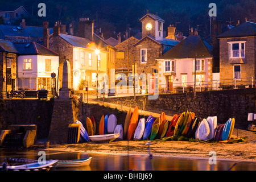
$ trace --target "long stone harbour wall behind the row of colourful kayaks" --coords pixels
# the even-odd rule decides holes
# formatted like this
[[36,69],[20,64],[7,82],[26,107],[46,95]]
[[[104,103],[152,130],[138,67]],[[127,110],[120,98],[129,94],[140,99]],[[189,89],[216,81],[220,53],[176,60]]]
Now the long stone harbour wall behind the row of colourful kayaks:
[[236,127],[245,129],[250,122],[248,113],[256,113],[256,88],[219,90],[210,92],[159,94],[158,99],[148,100],[147,96],[105,98],[105,102],[127,105],[139,109],[167,115],[193,111],[196,116],[207,118],[217,115],[218,123],[225,123],[229,118],[236,119]]

